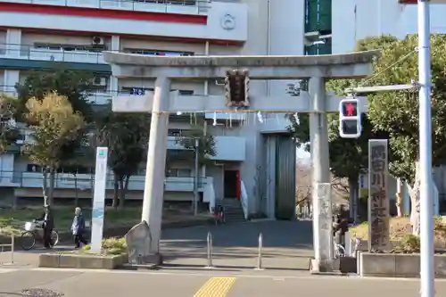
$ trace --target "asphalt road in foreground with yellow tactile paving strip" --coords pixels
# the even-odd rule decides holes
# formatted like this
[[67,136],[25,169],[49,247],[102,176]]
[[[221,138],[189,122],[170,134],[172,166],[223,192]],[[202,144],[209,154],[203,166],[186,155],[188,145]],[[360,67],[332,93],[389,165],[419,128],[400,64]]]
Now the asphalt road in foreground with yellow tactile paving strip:
[[[419,296],[417,279],[308,276],[299,272],[276,276],[268,270],[245,273],[0,270],[0,296],[24,296],[22,290],[31,288],[51,290],[67,297]],[[445,281],[436,282],[436,296],[446,296]]]

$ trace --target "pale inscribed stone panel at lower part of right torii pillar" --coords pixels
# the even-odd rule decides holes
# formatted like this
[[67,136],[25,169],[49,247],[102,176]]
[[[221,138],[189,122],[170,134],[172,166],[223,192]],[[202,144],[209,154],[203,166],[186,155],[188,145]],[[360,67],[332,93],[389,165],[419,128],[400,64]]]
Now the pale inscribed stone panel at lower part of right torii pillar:
[[315,210],[318,216],[318,256],[319,260],[330,262],[333,260],[333,226],[331,185],[329,183],[317,184],[318,199]]

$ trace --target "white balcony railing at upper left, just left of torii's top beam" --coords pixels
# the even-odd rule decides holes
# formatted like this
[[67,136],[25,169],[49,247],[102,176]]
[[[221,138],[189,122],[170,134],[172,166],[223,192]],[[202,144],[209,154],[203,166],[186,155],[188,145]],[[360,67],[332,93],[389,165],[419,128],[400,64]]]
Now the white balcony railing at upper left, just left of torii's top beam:
[[[1,1],[1,0],[0,0]],[[0,58],[30,61],[81,62],[104,64],[103,54],[89,51],[66,51],[36,48],[30,45],[0,45]]]

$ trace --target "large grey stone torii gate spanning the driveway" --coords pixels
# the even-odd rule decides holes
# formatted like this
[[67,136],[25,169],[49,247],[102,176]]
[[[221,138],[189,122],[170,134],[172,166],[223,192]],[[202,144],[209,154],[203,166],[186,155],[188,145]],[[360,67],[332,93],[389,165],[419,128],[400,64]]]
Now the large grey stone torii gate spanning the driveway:
[[[310,112],[313,164],[313,219],[315,263],[319,271],[332,269],[332,213],[329,186],[326,112],[337,112],[342,97],[326,95],[326,78],[364,78],[371,73],[377,51],[319,56],[150,56],[104,52],[116,78],[156,78],[154,92],[141,97],[113,97],[116,112],[151,112],[142,219],[151,227],[153,253],[158,253],[164,194],[169,112],[231,112],[224,95],[178,95],[170,92],[172,79],[225,78],[229,70],[248,70],[251,79],[310,78],[309,92],[300,96],[250,94],[247,111]],[[285,92],[284,92],[285,93]],[[361,111],[367,99],[361,98]],[[325,190],[325,191],[321,191]]]

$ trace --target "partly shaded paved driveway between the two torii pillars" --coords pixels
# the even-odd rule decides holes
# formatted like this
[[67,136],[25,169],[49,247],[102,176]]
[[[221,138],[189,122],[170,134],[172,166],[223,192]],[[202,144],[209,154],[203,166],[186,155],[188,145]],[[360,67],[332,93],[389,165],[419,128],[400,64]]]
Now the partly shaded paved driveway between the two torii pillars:
[[167,267],[202,267],[207,260],[206,238],[210,232],[215,266],[253,268],[261,233],[265,268],[307,270],[313,254],[311,228],[310,221],[260,221],[172,229],[163,232],[161,252]]

